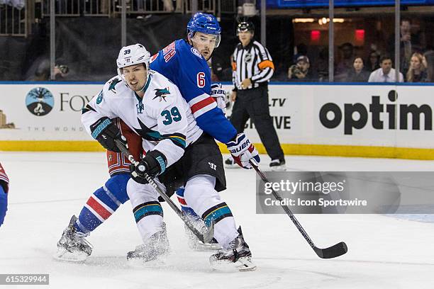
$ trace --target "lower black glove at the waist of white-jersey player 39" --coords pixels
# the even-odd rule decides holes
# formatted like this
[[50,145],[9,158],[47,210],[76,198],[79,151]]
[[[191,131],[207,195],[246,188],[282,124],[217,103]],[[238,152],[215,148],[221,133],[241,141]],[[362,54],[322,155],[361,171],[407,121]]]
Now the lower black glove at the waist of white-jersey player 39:
[[151,179],[164,173],[167,166],[167,159],[164,154],[155,150],[146,153],[146,156],[138,163],[130,166],[131,178],[138,183],[148,183],[145,174]]

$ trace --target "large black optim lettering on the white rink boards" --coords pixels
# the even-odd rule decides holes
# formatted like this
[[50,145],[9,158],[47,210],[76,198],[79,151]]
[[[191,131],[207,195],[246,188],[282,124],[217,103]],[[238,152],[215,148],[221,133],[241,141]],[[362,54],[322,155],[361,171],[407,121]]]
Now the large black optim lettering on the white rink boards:
[[[344,134],[352,135],[352,130],[365,128],[369,113],[372,119],[372,128],[376,130],[433,130],[433,111],[428,104],[400,104],[396,91],[389,91],[390,103],[384,105],[379,96],[372,96],[369,108],[363,103],[344,103],[342,110],[336,103],[325,103],[321,107],[319,118],[325,128],[337,128],[344,118]],[[408,117],[411,116],[411,128],[408,128]]]

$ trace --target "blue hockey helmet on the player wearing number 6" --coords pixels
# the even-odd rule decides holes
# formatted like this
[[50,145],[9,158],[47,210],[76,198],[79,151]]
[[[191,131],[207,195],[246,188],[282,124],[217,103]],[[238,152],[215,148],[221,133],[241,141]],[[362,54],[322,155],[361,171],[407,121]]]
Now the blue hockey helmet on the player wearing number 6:
[[221,27],[216,16],[206,13],[195,13],[187,24],[189,38],[193,38],[195,32],[216,35],[216,47],[220,44]]

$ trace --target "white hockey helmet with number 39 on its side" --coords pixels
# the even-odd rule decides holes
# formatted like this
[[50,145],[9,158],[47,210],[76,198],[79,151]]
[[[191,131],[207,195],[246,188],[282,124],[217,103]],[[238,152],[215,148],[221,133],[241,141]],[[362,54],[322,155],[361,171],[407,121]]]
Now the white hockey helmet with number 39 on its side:
[[121,51],[119,51],[118,59],[116,60],[119,77],[125,81],[125,77],[123,77],[122,74],[122,68],[140,63],[145,64],[145,67],[149,72],[149,60],[149,51],[146,50],[145,46],[139,43],[122,47]]

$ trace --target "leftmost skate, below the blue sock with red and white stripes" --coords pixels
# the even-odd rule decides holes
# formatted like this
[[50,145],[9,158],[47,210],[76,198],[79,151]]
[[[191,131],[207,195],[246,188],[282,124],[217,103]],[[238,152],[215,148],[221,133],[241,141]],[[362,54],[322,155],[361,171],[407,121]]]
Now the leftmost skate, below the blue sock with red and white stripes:
[[77,217],[73,215],[68,227],[63,231],[62,237],[57,242],[55,259],[69,262],[82,262],[92,254],[93,246],[85,239],[86,234],[77,232],[74,223]]

